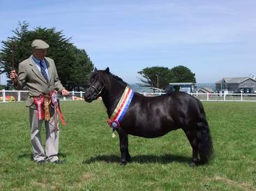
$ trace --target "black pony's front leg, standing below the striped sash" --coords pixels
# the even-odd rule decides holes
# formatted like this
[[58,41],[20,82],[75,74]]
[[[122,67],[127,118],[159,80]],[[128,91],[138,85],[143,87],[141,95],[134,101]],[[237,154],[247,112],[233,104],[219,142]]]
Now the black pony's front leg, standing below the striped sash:
[[126,165],[127,162],[130,162],[130,154],[128,151],[128,134],[121,129],[119,129],[118,133],[121,151],[121,165]]

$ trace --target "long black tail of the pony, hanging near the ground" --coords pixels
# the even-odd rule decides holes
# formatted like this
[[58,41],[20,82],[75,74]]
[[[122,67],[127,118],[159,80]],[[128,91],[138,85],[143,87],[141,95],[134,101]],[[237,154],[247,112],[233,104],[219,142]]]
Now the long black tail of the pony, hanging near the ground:
[[200,163],[208,163],[213,155],[213,143],[211,141],[211,132],[206,121],[206,115],[202,103],[199,102],[200,122],[197,123],[196,133],[200,156]]

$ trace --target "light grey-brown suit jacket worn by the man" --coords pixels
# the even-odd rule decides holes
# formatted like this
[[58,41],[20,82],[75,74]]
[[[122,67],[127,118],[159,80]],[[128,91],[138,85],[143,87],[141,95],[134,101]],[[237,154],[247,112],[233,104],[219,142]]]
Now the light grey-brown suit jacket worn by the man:
[[33,105],[34,96],[49,94],[53,90],[57,90],[61,93],[61,90],[64,89],[61,81],[59,80],[54,60],[47,57],[45,57],[45,60],[49,74],[49,83],[45,81],[45,78],[39,71],[38,67],[36,67],[36,63],[34,63],[32,56],[19,64],[16,88],[17,90],[22,90],[25,85],[27,86],[27,89],[29,90],[29,98],[27,100],[28,107]]

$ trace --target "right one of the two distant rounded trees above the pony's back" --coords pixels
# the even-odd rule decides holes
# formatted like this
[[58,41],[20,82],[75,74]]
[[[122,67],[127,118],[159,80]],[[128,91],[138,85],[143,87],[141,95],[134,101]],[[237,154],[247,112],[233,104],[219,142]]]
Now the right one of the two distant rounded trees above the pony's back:
[[195,74],[188,67],[177,66],[170,69],[170,83],[196,83]]

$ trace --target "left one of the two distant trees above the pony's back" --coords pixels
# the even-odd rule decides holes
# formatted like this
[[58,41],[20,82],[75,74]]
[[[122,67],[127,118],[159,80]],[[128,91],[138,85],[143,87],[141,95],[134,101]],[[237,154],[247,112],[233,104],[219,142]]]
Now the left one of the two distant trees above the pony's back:
[[157,87],[158,85],[158,88],[165,90],[169,84],[170,70],[167,67],[146,67],[138,74],[142,75],[140,81],[144,83],[144,86]]

